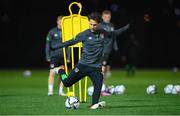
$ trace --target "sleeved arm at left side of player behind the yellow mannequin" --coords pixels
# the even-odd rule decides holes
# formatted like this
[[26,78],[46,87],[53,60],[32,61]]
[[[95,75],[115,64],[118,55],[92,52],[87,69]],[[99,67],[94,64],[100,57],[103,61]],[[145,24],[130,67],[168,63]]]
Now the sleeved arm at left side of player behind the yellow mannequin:
[[51,40],[52,40],[52,34],[49,32],[46,37],[46,48],[45,48],[45,54],[46,54],[46,61],[50,61],[50,53],[51,53]]

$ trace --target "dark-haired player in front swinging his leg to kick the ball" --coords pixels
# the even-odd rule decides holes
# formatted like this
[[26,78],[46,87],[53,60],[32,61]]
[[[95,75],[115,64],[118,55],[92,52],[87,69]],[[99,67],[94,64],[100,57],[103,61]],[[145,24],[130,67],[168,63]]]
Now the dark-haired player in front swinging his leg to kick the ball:
[[121,34],[129,28],[129,24],[118,30],[107,32],[100,29],[101,16],[98,13],[89,15],[89,29],[78,34],[74,39],[66,41],[61,47],[68,47],[78,42],[83,43],[83,53],[75,68],[69,75],[66,75],[64,66],[55,68],[66,87],[70,87],[85,76],[89,76],[94,86],[92,105],[90,109],[97,109],[105,106],[105,101],[99,102],[103,75],[101,71],[101,60],[103,56],[104,36]]

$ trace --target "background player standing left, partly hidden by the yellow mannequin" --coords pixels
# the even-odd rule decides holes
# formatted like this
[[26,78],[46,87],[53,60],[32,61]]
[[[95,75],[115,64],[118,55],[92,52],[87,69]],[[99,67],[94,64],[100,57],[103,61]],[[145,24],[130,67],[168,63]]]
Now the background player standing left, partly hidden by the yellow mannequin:
[[[55,67],[64,64],[63,49],[57,48],[58,46],[62,45],[61,19],[62,16],[58,16],[57,27],[51,29],[46,38],[46,61],[50,63],[50,71],[48,77],[48,96],[53,95],[53,86],[54,86],[54,77],[55,77],[55,73],[53,69]],[[58,80],[58,85],[59,85],[59,95],[65,96],[63,92],[63,83],[60,80]]]

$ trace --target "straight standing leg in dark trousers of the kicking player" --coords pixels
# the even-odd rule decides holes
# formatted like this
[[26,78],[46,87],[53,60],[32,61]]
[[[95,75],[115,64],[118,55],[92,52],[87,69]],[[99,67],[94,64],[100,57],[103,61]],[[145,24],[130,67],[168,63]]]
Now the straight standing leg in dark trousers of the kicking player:
[[90,72],[88,76],[92,80],[92,83],[94,86],[94,92],[92,95],[92,106],[93,106],[94,104],[97,104],[99,102],[102,82],[103,82],[103,75],[100,70],[94,70]]

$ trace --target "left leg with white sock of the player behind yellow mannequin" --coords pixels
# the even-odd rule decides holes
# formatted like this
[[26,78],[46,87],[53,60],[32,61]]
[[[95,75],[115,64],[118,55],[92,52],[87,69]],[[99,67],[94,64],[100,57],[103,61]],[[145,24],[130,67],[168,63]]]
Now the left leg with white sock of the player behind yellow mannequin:
[[54,71],[50,69],[48,76],[48,96],[53,95],[53,86],[54,86]]

